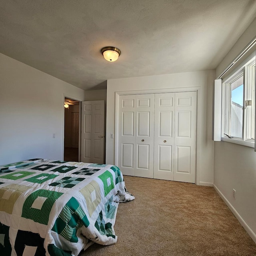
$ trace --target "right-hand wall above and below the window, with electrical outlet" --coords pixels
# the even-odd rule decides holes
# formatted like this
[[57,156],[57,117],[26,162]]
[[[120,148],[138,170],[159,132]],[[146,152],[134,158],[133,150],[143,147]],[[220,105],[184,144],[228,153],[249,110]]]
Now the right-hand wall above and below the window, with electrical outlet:
[[[216,77],[256,35],[256,19],[216,68]],[[255,46],[254,46],[255,49]],[[228,142],[214,143],[214,187],[256,242],[256,152]],[[236,190],[236,199],[232,189]]]

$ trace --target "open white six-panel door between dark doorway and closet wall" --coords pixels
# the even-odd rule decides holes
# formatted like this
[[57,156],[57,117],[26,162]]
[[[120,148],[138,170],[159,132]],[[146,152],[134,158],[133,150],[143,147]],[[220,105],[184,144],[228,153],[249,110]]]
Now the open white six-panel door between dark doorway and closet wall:
[[81,162],[104,163],[104,100],[82,102]]

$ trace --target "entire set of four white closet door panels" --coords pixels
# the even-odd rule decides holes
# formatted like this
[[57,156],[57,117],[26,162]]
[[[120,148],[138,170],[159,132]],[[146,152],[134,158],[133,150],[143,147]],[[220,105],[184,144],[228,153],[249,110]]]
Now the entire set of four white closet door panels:
[[119,96],[123,174],[195,183],[196,92]]

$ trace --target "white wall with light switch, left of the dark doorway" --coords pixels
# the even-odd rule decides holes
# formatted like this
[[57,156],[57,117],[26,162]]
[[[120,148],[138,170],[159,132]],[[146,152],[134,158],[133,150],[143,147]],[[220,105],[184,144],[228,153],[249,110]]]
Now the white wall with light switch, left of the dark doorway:
[[0,164],[61,160],[64,96],[84,100],[84,90],[3,54],[0,83]]

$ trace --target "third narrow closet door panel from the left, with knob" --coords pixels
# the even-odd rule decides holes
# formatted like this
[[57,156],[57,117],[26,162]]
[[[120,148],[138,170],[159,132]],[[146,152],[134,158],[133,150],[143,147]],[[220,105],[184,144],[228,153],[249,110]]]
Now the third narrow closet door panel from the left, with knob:
[[154,178],[174,177],[174,93],[155,94]]

